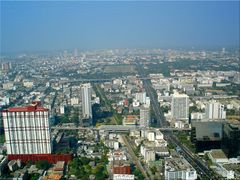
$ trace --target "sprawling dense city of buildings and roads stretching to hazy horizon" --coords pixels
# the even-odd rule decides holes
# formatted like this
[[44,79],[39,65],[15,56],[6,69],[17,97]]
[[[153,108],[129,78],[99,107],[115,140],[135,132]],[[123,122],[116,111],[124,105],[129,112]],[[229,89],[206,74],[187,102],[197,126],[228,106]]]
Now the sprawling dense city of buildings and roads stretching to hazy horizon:
[[2,177],[238,178],[239,72],[222,71],[236,52],[56,54],[0,68]]

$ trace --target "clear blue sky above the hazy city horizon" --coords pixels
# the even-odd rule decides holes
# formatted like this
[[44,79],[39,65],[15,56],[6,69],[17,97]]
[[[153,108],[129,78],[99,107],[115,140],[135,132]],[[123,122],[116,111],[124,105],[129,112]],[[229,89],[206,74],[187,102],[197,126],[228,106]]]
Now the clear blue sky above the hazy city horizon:
[[239,1],[1,1],[1,53],[239,47]]

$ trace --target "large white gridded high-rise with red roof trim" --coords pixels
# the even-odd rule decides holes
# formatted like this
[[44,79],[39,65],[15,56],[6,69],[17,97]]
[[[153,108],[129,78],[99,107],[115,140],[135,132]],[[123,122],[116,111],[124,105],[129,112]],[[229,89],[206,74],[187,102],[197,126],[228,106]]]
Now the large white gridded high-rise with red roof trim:
[[8,155],[51,154],[48,113],[37,102],[2,111]]

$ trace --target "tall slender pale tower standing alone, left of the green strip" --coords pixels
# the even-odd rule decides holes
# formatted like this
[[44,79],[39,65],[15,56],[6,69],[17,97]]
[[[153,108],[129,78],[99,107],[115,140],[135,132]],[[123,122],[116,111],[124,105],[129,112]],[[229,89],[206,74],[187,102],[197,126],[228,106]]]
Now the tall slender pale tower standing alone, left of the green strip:
[[92,119],[92,87],[90,83],[83,84],[81,87],[82,95],[82,117],[83,119]]

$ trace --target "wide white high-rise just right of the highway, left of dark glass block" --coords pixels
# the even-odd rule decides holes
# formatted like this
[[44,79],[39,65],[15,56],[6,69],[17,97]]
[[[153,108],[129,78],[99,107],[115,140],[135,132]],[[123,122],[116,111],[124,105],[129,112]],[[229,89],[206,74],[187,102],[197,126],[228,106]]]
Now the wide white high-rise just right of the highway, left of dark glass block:
[[173,94],[171,111],[172,117],[176,120],[188,120],[189,97],[186,94]]

